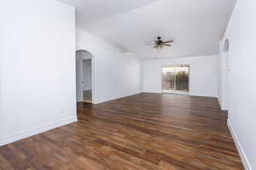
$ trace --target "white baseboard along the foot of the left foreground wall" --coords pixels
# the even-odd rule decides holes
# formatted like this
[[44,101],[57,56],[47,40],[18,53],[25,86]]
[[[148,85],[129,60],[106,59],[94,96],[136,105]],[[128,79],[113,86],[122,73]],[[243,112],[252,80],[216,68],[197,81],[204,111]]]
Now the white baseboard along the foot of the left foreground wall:
[[49,131],[51,129],[54,129],[56,127],[61,127],[61,126],[67,125],[69,123],[77,122],[77,121],[78,121],[78,117],[73,116],[73,117],[69,117],[69,118],[66,118],[66,119],[62,119],[61,121],[58,121],[58,122],[51,122],[51,123],[48,123],[44,126],[33,128],[33,129],[28,130],[26,132],[21,132],[21,133],[16,133],[16,134],[13,134],[13,135],[9,135],[7,137],[3,137],[2,139],[0,139],[0,146],[5,145],[5,144],[13,143],[13,142],[18,141],[20,139],[26,139],[26,138],[31,137],[33,135],[36,135],[38,133],[44,133],[44,132]]

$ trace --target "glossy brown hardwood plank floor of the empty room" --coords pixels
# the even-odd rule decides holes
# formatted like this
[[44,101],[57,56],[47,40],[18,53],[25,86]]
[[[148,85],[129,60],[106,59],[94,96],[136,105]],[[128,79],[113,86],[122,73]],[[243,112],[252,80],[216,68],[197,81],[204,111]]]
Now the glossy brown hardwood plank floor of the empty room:
[[137,94],[78,110],[79,122],[0,147],[0,169],[243,169],[217,99]]

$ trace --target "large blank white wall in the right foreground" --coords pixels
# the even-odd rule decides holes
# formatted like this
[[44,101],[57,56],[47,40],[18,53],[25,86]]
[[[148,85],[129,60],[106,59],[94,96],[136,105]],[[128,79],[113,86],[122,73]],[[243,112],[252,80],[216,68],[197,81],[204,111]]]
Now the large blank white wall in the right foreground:
[[224,35],[230,40],[229,126],[247,169],[256,169],[255,8],[256,1],[238,0]]

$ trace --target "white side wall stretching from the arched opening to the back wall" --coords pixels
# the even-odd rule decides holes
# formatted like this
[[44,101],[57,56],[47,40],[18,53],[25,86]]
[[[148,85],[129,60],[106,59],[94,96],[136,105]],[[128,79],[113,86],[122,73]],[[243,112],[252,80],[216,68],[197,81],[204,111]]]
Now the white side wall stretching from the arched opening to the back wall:
[[94,103],[142,92],[142,61],[77,29],[77,49],[94,56]]

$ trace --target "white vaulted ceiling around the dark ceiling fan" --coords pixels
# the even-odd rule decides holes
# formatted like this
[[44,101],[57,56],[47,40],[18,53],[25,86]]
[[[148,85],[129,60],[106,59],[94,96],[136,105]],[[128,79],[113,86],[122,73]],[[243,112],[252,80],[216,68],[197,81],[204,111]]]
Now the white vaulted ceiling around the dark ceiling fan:
[[[218,54],[236,0],[60,0],[77,8],[77,24],[143,59]],[[157,36],[174,40],[157,51]]]

